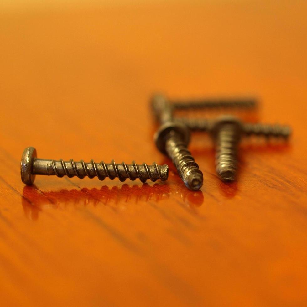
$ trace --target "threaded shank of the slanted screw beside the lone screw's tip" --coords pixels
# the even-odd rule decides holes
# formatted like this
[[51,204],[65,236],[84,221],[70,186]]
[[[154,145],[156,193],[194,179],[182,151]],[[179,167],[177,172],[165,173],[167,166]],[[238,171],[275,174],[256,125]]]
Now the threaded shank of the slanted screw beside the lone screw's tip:
[[199,190],[203,183],[203,174],[186,143],[179,137],[172,136],[166,141],[165,149],[186,187],[191,190]]

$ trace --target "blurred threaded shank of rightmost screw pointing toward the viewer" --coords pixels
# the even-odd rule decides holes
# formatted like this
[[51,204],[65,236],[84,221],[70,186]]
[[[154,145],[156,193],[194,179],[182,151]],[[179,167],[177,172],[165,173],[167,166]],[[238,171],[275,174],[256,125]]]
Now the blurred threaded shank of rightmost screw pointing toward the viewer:
[[216,135],[216,173],[223,181],[233,181],[237,171],[239,137],[233,125],[224,125]]

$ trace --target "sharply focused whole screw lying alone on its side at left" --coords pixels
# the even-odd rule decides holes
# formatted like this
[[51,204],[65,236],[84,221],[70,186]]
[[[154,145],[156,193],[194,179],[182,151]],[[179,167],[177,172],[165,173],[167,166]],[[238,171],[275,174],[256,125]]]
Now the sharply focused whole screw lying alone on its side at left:
[[164,165],[157,165],[155,162],[153,165],[147,165],[145,163],[139,165],[134,161],[132,164],[116,164],[114,160],[111,163],[94,162],[74,162],[64,161],[60,159],[46,160],[36,158],[36,149],[28,147],[23,151],[21,157],[21,180],[26,185],[32,185],[35,179],[35,175],[56,175],[58,177],[67,176],[69,178],[77,176],[80,179],[85,176],[89,178],[98,177],[99,180],[104,180],[106,177],[110,179],[118,178],[120,181],[125,181],[127,178],[135,180],[139,178],[141,182],[145,182],[147,179],[156,181],[158,179],[165,181],[168,178],[169,167]]

